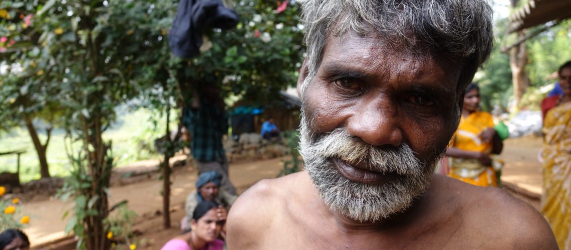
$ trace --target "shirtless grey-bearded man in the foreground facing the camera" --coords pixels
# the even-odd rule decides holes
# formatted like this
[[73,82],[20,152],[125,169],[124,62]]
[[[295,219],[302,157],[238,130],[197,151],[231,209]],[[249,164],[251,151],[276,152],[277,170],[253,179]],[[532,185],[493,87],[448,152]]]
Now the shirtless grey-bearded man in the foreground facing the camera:
[[485,0],[308,0],[305,171],[246,191],[228,249],[556,249],[533,207],[432,175],[492,47]]

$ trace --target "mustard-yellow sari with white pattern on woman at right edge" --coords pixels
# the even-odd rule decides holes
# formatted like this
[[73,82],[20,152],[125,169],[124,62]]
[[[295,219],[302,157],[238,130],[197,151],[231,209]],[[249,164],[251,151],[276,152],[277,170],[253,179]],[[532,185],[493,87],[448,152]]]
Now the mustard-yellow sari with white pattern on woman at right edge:
[[545,116],[541,214],[553,229],[560,249],[571,249],[571,103]]

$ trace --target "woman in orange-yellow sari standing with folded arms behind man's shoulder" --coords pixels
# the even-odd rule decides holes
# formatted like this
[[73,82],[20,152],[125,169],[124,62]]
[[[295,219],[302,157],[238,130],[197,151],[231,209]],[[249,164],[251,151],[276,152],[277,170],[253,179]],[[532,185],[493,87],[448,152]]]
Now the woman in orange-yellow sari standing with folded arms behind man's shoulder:
[[446,155],[451,157],[449,176],[482,187],[497,187],[496,172],[490,154],[499,154],[504,146],[494,130],[492,115],[481,112],[480,88],[475,83],[464,92],[460,124]]

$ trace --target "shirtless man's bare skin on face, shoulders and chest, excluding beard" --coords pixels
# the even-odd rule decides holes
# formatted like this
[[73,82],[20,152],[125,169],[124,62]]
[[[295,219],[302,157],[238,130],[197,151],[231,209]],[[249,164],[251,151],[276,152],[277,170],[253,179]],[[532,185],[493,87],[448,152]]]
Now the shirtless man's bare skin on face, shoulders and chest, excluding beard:
[[[377,147],[406,142],[427,161],[456,129],[460,64],[396,50],[377,37],[328,38],[323,62],[305,92],[311,129],[323,134],[344,127]],[[300,76],[303,81],[305,68]],[[228,249],[555,246],[542,216],[498,189],[435,175],[405,211],[357,222],[329,210],[304,171],[264,180],[240,196],[228,215],[227,243]]]

